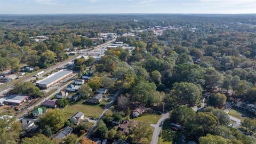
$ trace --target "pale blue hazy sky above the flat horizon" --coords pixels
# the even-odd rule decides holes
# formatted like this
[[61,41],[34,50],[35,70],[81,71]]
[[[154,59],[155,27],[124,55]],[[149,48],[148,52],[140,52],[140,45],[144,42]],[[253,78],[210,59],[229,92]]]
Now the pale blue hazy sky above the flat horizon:
[[256,13],[256,0],[0,0],[0,14],[61,13]]

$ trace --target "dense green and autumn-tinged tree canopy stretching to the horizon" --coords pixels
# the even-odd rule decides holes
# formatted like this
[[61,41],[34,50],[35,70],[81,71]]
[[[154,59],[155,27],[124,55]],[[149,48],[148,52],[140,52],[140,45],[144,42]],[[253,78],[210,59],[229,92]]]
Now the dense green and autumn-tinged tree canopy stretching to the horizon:
[[[255,15],[1,15],[0,19],[1,71],[19,71],[21,65],[38,69],[52,66],[68,58],[67,48],[86,49],[103,43],[90,39],[99,33],[116,33],[118,42],[134,46],[131,52],[122,47],[109,49],[99,61],[75,61],[76,69],[84,71],[90,67],[94,72],[87,83],[92,90],[115,86],[105,75],[122,84],[122,96],[112,109],[114,114],[103,118],[105,123],[117,114],[129,115],[133,102],[160,111],[164,105],[165,111],[171,111],[168,121],[186,129],[177,133],[177,142],[180,135],[199,143],[256,142],[255,116],[246,120],[250,121],[247,127],[242,123],[250,132],[246,136],[228,126],[230,119],[223,111],[226,101],[256,104]],[[155,35],[148,29],[156,26],[180,29],[167,29],[162,35]],[[146,30],[139,33],[135,29]],[[124,33],[134,33],[135,37],[122,36]],[[41,35],[49,35],[49,39],[35,42],[31,38]],[[89,88],[84,89],[81,93]],[[201,107],[204,98],[208,107],[197,112],[191,109]],[[106,126],[104,129],[105,132],[94,134],[107,137]],[[126,140],[143,143],[141,138],[148,136],[139,131],[146,129],[142,127],[137,137],[129,135]]]

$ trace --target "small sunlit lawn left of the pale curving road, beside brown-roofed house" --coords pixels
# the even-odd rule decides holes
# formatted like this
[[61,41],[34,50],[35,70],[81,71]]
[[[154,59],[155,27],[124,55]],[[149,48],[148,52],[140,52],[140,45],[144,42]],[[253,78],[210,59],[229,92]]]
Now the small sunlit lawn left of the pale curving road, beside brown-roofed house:
[[138,121],[138,122],[146,122],[149,124],[156,124],[159,120],[159,118],[161,118],[161,115],[158,114],[145,114],[142,116],[139,116],[137,118],[133,118],[133,121]]

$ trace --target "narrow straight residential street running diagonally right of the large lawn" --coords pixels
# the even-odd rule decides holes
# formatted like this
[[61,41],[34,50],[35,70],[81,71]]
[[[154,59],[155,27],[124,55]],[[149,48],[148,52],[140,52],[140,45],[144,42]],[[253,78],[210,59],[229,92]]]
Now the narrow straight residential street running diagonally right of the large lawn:
[[106,114],[106,112],[109,110],[109,108],[113,105],[114,101],[117,99],[117,97],[120,95],[121,93],[121,89],[118,90],[116,92],[116,94],[114,95],[114,97],[111,99],[111,101],[108,103],[108,106],[102,111],[102,113],[100,114],[99,118],[95,121],[94,125],[92,126],[91,130],[86,134],[86,138],[90,138],[92,132],[94,131],[94,129],[98,126],[100,119]]

